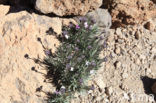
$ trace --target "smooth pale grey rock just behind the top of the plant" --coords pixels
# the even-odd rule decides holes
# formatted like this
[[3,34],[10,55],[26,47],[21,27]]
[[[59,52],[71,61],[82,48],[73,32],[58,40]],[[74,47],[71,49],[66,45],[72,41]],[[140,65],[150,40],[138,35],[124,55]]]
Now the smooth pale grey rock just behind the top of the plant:
[[112,25],[112,17],[106,9],[98,8],[95,11],[89,12],[87,16],[93,17],[101,27],[110,28]]

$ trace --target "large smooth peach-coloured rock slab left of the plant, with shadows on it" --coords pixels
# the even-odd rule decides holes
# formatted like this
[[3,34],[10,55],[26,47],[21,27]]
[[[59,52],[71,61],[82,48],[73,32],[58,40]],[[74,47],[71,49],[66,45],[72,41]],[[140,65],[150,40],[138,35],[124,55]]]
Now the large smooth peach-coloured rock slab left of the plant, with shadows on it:
[[[46,70],[26,59],[25,54],[35,59],[45,57],[42,44],[37,41],[41,38],[46,48],[54,52],[59,41],[51,34],[46,33],[49,28],[61,33],[60,18],[51,18],[30,14],[26,11],[10,13],[0,19],[0,99],[2,103],[44,103],[46,95],[36,93],[36,88],[55,91],[50,83],[44,82]],[[56,47],[55,47],[56,45]],[[32,67],[43,74],[31,70]],[[38,97],[38,96],[40,97]]]

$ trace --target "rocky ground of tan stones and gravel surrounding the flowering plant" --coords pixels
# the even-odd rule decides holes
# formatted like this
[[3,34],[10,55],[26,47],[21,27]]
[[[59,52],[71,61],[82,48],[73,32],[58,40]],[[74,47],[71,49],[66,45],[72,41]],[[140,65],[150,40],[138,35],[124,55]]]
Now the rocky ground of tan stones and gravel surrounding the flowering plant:
[[[107,45],[101,53],[105,62],[89,81],[95,89],[76,93],[72,103],[155,103],[151,95],[156,93],[156,85],[152,87],[156,82],[154,0],[0,3],[0,103],[46,103],[45,92],[55,91],[55,86],[45,82],[46,70],[33,58],[44,58],[42,44],[54,53],[60,42],[53,34],[61,34],[63,25],[76,23],[75,17],[86,14],[101,20],[101,28],[111,26],[111,21],[112,26],[107,28]],[[102,10],[97,12],[99,7]]]

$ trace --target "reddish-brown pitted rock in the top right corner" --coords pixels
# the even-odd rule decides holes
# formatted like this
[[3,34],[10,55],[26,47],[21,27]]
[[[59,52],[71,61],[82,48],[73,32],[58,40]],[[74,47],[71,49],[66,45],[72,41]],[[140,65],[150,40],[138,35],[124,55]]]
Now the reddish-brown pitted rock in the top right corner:
[[[109,0],[108,7],[114,26],[137,24],[156,16],[156,5],[152,0]],[[131,8],[131,9],[130,9]]]

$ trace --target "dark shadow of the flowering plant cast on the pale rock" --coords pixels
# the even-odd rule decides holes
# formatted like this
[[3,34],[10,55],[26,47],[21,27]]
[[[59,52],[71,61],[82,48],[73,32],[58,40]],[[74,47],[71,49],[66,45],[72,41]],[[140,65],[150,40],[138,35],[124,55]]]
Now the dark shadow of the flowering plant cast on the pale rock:
[[[51,31],[53,32],[53,31]],[[49,34],[47,34],[49,35]],[[60,37],[58,37],[59,40]],[[47,56],[51,56],[51,57],[55,57],[55,54],[52,54],[51,53],[51,50],[49,50],[48,48],[46,48],[43,44],[42,44],[42,40],[41,38],[37,38],[37,41],[41,43],[43,49],[44,49],[44,52],[45,52],[45,55]],[[36,72],[36,73],[40,73],[41,75],[43,75],[45,77],[45,80],[44,82],[46,83],[51,83],[52,85],[54,85],[56,87],[56,90],[59,90],[61,88],[61,72],[58,68],[61,68],[61,67],[55,67],[52,63],[49,63],[46,59],[40,59],[40,58],[32,58],[30,57],[28,54],[25,54],[24,57],[26,59],[29,59],[29,60],[33,60],[36,64],[39,64],[40,66],[44,67],[44,69],[47,71],[47,73],[42,73],[40,72],[40,70],[37,70],[35,67],[32,67],[31,70],[33,72]],[[39,86],[38,88],[36,88],[36,92],[43,92],[47,95],[47,99],[46,100],[50,100],[51,98],[53,98],[54,96],[56,96],[55,93],[53,92],[45,92],[42,90],[43,86]]]

